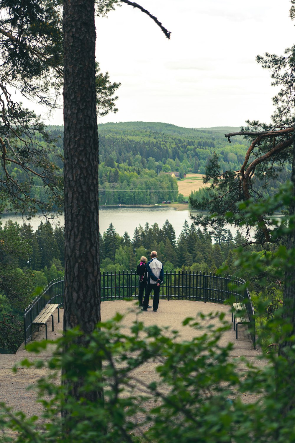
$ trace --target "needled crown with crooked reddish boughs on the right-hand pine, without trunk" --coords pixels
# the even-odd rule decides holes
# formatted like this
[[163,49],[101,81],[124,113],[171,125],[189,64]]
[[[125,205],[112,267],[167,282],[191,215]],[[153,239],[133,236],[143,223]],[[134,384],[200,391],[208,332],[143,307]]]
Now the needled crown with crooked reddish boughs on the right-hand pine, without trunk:
[[[266,53],[257,56],[257,62],[272,72],[272,85],[280,85],[281,89],[273,97],[276,106],[270,124],[256,120],[247,120],[247,126],[239,132],[225,134],[227,140],[235,136],[244,136],[248,143],[243,162],[237,170],[222,171],[219,156],[214,153],[207,163],[204,183],[211,181],[207,196],[196,200],[193,196],[190,203],[193,209],[209,210],[213,217],[195,217],[197,223],[203,225],[220,225],[226,212],[236,225],[239,224],[242,203],[259,202],[264,198],[263,190],[268,188],[270,180],[276,179],[282,171],[290,170],[293,162],[294,142],[294,60],[295,46],[287,48],[283,56]],[[268,211],[257,214],[255,241],[279,241],[278,230],[270,222],[269,216],[286,208],[284,194],[276,199],[276,204],[268,206]],[[247,225],[249,237],[249,225]]]

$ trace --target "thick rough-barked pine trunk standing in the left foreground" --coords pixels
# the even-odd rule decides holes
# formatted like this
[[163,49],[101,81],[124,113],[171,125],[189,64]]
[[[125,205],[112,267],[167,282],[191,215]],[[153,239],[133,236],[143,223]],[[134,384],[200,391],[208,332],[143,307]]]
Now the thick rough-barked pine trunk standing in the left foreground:
[[[63,33],[64,331],[79,326],[88,334],[100,321],[94,0],[64,2]],[[87,341],[82,337],[80,344],[87,346]],[[67,383],[66,369],[63,372],[69,395],[78,399],[83,374],[76,374],[77,382]],[[101,392],[84,395],[88,400],[102,396]]]

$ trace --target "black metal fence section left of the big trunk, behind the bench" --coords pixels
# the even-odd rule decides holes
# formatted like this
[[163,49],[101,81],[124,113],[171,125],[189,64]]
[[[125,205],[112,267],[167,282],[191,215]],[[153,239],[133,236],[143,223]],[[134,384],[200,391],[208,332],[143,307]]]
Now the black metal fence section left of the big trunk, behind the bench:
[[33,335],[38,330],[38,325],[33,324],[33,320],[42,311],[47,303],[58,303],[61,306],[64,302],[64,279],[52,280],[42,292],[24,310],[23,327],[25,346],[30,342]]

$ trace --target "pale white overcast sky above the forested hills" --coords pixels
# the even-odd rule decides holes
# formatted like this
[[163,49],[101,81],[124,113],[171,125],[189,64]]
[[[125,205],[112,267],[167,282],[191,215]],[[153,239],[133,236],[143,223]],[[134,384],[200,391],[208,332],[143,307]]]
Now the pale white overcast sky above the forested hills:
[[[256,55],[295,43],[289,0],[138,0],[172,32],[165,38],[126,4],[97,20],[96,58],[121,82],[118,113],[107,121],[159,121],[184,127],[270,121],[270,73]],[[51,124],[61,124],[56,112]]]

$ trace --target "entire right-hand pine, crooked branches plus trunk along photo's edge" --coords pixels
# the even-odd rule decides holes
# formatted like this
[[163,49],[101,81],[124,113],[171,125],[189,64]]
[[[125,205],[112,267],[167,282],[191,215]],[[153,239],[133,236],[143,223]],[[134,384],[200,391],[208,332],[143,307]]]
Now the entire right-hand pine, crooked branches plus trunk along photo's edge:
[[[291,18],[295,18],[295,2],[292,1]],[[266,53],[258,55],[257,61],[271,71],[272,85],[280,85],[281,89],[273,97],[275,112],[270,124],[259,121],[247,121],[247,126],[241,132],[225,134],[231,138],[243,135],[249,143],[245,160],[237,171],[221,172],[218,165],[218,155],[214,155],[207,165],[205,182],[212,180],[210,194],[203,200],[195,201],[190,198],[195,209],[207,209],[213,217],[194,217],[197,224],[220,227],[227,221],[236,225],[245,225],[248,241],[244,245],[258,243],[263,245],[264,254],[269,244],[278,243],[280,248],[268,256],[268,264],[272,266],[272,274],[280,272],[284,286],[283,310],[281,315],[288,325],[282,330],[278,340],[279,354],[286,357],[290,365],[294,364],[291,348],[295,333],[295,46],[287,48],[283,56]],[[272,198],[264,199],[257,188],[257,180],[268,186],[268,180],[275,177],[286,165],[291,170],[290,181]],[[278,222],[274,217],[275,211],[285,210]],[[250,227],[254,229],[254,240],[249,239]],[[247,263],[241,258],[240,263]],[[266,261],[257,257],[253,269],[266,265]],[[248,262],[249,265],[249,262]],[[266,270],[264,270],[267,273]],[[265,278],[261,278],[265,282]],[[281,284],[281,281],[280,281]],[[284,379],[284,377],[283,377]],[[287,381],[285,379],[285,381]],[[291,398],[293,396],[293,398]],[[290,392],[289,408],[294,410],[294,391]],[[283,412],[285,414],[285,411]]]

